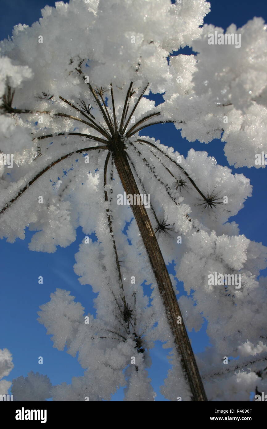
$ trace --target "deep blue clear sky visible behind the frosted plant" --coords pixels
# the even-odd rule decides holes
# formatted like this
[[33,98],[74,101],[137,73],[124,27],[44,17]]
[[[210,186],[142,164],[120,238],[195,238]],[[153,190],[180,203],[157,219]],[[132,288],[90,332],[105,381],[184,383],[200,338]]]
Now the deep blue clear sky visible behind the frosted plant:
[[[46,4],[54,6],[50,0],[1,0],[0,2],[0,39],[12,35],[15,24],[32,24],[41,17],[40,9]],[[267,21],[267,3],[262,0],[211,0],[211,12],[205,23],[215,24],[226,29],[231,23],[237,27],[244,25],[254,16],[261,16]],[[187,53],[187,52],[184,52]],[[219,164],[228,165],[223,153],[224,144],[214,140],[208,145],[195,142],[189,143],[180,136],[172,124],[156,125],[144,132],[168,146],[173,146],[186,155],[192,147],[205,150],[214,156]],[[232,168],[232,167],[231,167]],[[234,169],[233,173],[243,173],[250,178],[253,185],[253,196],[245,202],[245,207],[232,218],[239,224],[240,233],[249,239],[267,245],[266,213],[267,213],[267,169]],[[52,384],[71,383],[73,376],[83,375],[78,361],[66,352],[52,347],[50,336],[45,335],[46,329],[36,318],[39,305],[49,301],[49,295],[57,287],[70,290],[76,300],[81,302],[85,311],[93,310],[93,293],[90,286],[82,286],[73,272],[74,255],[78,245],[84,238],[81,228],[77,230],[77,240],[68,248],[58,248],[54,254],[29,251],[28,242],[32,233],[27,231],[26,239],[17,239],[15,243],[0,241],[1,282],[0,282],[0,348],[8,348],[13,355],[14,369],[7,380],[28,372],[40,372],[48,375]],[[264,270],[262,274],[267,275]],[[38,284],[38,276],[44,277],[44,284]],[[183,287],[180,285],[180,293]],[[205,326],[197,334],[190,333],[194,351],[204,350],[208,344]],[[43,365],[38,364],[38,356],[43,356]],[[149,369],[152,385],[157,392],[156,401],[165,400],[159,393],[169,368],[166,351],[161,344],[151,350],[153,365]],[[118,392],[113,400],[122,400],[122,392]]]

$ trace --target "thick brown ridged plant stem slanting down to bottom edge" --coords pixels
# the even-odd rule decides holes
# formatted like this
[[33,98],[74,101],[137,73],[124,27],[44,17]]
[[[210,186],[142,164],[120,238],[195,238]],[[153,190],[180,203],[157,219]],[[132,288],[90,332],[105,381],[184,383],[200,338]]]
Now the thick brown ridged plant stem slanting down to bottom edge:
[[[132,174],[125,148],[121,142],[114,142],[113,156],[117,172],[120,176],[120,180],[126,194],[138,195],[138,186]],[[165,266],[147,211],[144,208],[144,205],[131,205],[131,208],[159,287],[159,293],[165,307],[166,317],[171,328],[175,347],[181,358],[181,364],[189,383],[191,399],[192,401],[198,402],[207,401],[198,366],[195,361],[195,356],[186,332],[186,327],[183,323],[177,298],[171,284],[171,279]],[[181,323],[177,322],[178,317],[181,317]]]

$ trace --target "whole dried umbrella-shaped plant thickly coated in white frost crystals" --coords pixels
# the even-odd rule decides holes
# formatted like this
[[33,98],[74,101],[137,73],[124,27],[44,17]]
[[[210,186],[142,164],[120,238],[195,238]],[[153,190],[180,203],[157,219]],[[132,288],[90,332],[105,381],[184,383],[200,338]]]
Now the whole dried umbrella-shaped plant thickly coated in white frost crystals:
[[[23,239],[29,226],[37,231],[30,249],[54,252],[81,226],[74,269],[98,293],[95,318],[60,289],[39,312],[54,346],[78,352],[86,369],[72,385],[52,387],[55,401],[108,400],[123,385],[126,401],[153,401],[146,368],[158,339],[173,349],[162,388],[172,401],[249,400],[266,381],[266,281],[257,281],[266,249],[228,222],[251,195],[249,180],[206,152],[191,149],[184,158],[139,136],[172,122],[189,141],[227,141],[235,166],[255,166],[264,150],[266,25],[254,18],[229,27],[242,36],[238,49],[210,45],[209,34],[223,30],[199,27],[209,7],[204,0],[57,2],[1,42],[1,151],[14,161],[1,166],[1,236]],[[172,55],[186,45],[198,54]],[[150,91],[164,103],[144,97]],[[124,192],[149,195],[150,203],[120,205]],[[192,292],[179,305],[166,268],[173,261]],[[210,284],[217,274],[242,280],[236,288]],[[198,331],[204,318],[212,347],[198,365],[207,397],[185,328]],[[239,359],[225,366],[224,356]],[[27,397],[38,385],[48,397],[49,380],[37,378],[30,373]]]

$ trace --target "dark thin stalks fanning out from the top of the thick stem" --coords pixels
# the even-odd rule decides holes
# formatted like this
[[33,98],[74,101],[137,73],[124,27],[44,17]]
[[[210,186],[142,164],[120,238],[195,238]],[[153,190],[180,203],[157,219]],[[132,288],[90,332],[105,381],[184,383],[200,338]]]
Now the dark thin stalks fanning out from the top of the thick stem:
[[[137,121],[135,124],[133,124],[128,129],[129,122],[130,122],[130,120],[131,120],[131,118],[135,112],[135,109],[137,108],[138,104],[140,103],[141,98],[144,96],[144,93],[147,90],[149,84],[147,83],[147,85],[143,88],[143,90],[139,94],[138,99],[134,103],[132,110],[130,110],[131,99],[132,99],[133,95],[136,94],[136,91],[133,88],[133,82],[130,82],[128,91],[126,93],[126,98],[125,98],[125,102],[124,102],[124,106],[123,106],[123,112],[122,112],[120,121],[117,121],[112,84],[109,85],[109,88],[104,88],[102,86],[93,88],[92,85],[90,84],[90,82],[86,81],[86,77],[84,76],[83,72],[81,71],[81,65],[83,62],[84,62],[84,60],[81,60],[78,64],[78,67],[76,67],[75,70],[83,78],[83,81],[89,86],[90,93],[93,96],[93,100],[95,101],[95,103],[97,104],[97,106],[99,108],[99,111],[101,112],[103,124],[101,124],[95,120],[95,117],[91,113],[93,106],[91,105],[91,103],[87,103],[83,99],[79,99],[79,101],[81,102],[80,105],[79,104],[75,105],[71,101],[66,100],[64,97],[59,96],[60,100],[62,100],[66,105],[72,107],[72,109],[74,109],[75,111],[79,112],[84,118],[87,119],[86,121],[82,118],[75,117],[73,115],[69,115],[69,114],[66,114],[63,112],[56,112],[56,113],[53,113],[53,115],[59,116],[59,117],[69,118],[69,119],[72,119],[73,121],[79,121],[81,123],[84,123],[88,127],[92,128],[92,129],[96,130],[98,133],[100,133],[103,138],[100,138],[98,136],[93,136],[91,134],[75,133],[75,132],[58,133],[56,136],[86,137],[87,139],[91,139],[91,140],[94,140],[96,142],[101,142],[105,146],[83,148],[83,149],[79,149],[78,151],[73,151],[69,154],[66,154],[64,157],[61,157],[58,160],[55,160],[53,163],[51,163],[46,169],[44,169],[42,172],[40,172],[40,175],[42,175],[44,172],[46,172],[48,169],[50,169],[52,166],[54,166],[55,164],[57,164],[61,160],[66,159],[66,157],[71,156],[72,154],[76,154],[76,153],[78,154],[78,153],[82,153],[85,151],[96,150],[96,149],[109,149],[109,151],[111,151],[111,153],[112,153],[112,148],[114,147],[114,145],[118,145],[118,144],[120,144],[120,146],[123,150],[126,150],[127,146],[125,144],[125,141],[127,139],[129,139],[130,137],[132,137],[135,133],[138,133],[139,131],[143,130],[144,128],[146,128],[150,125],[163,124],[166,122],[173,122],[173,121],[166,121],[166,120],[163,120],[160,118],[159,118],[159,120],[151,121],[152,118],[159,117],[161,115],[161,112],[157,111],[157,112],[150,113],[149,115],[145,115],[143,118],[141,118],[139,121]],[[106,105],[105,100],[104,100],[105,93],[107,93],[108,91],[110,91],[110,93],[111,93],[111,103],[112,103],[112,108],[111,108],[111,106],[109,106],[109,109],[108,109],[108,106]],[[2,104],[0,106],[0,108],[2,109],[3,112],[10,113],[11,115],[34,114],[34,113],[52,115],[52,113],[50,111],[46,111],[46,110],[44,110],[44,111],[32,111],[29,109],[15,109],[15,108],[13,108],[12,102],[13,102],[14,94],[15,94],[15,91],[12,91],[12,88],[9,86],[9,84],[7,84],[6,94],[4,94],[4,96],[2,97]],[[41,98],[41,99],[46,98],[47,100],[53,99],[53,95],[47,94],[45,92],[42,92],[42,94],[43,94],[43,97],[38,97],[38,98]],[[112,113],[110,113],[110,111],[112,111]],[[130,113],[129,113],[129,111],[130,111]],[[37,139],[43,140],[43,139],[47,139],[50,137],[56,137],[56,136],[53,134],[47,134],[47,135],[38,136]],[[168,154],[165,154],[165,152],[163,152],[156,145],[153,145],[153,143],[148,142],[147,140],[144,140],[144,139],[137,139],[137,142],[143,142],[146,145],[150,145],[153,148],[156,148],[157,151],[161,152],[162,154],[165,155],[165,157],[167,157],[169,160],[171,160],[171,162],[174,163],[183,172],[183,174],[186,176],[186,178],[189,179],[189,181],[191,182],[193,187],[195,187],[195,189],[201,195],[201,198],[204,201],[202,203],[202,205],[204,205],[205,208],[206,207],[215,208],[216,204],[221,204],[221,202],[218,201],[218,196],[216,194],[212,193],[211,195],[209,195],[209,193],[207,193],[207,196],[205,196],[204,193],[201,192],[201,190],[198,188],[198,186],[192,180],[192,178],[190,178],[190,176],[185,171],[185,169],[183,169],[183,167],[180,166],[180,164],[176,163],[171,157],[169,157]],[[36,153],[37,153],[37,157],[41,156],[42,151],[41,151],[40,146],[37,146]],[[168,167],[165,166],[165,164],[161,160],[160,160],[160,162],[164,165],[165,169],[169,172],[169,174],[171,174],[171,176],[174,177],[176,190],[179,189],[181,192],[181,190],[183,188],[187,187],[187,185],[189,183],[187,180],[185,180],[180,175],[179,175],[179,179],[178,179],[170,171],[170,169],[168,169]],[[107,167],[107,165],[106,165],[106,167]],[[38,175],[38,178],[40,177],[40,175]],[[33,181],[31,183],[33,183],[35,180],[36,179],[33,178]],[[24,190],[21,190],[18,196],[20,196],[21,193],[23,193],[23,192],[24,192]],[[18,198],[18,196],[15,196],[15,198],[12,200],[12,202],[15,201]],[[9,207],[9,203],[7,203],[7,205],[3,208],[2,211],[0,211],[0,213],[5,211],[6,208],[8,208],[8,207]],[[160,230],[161,229],[161,223],[158,221],[158,219],[157,219],[157,224],[158,224],[158,227]]]

